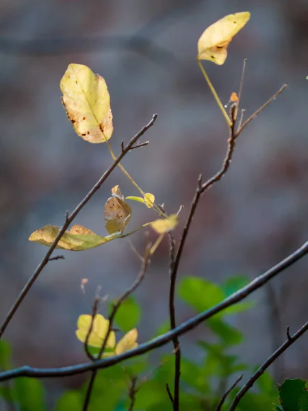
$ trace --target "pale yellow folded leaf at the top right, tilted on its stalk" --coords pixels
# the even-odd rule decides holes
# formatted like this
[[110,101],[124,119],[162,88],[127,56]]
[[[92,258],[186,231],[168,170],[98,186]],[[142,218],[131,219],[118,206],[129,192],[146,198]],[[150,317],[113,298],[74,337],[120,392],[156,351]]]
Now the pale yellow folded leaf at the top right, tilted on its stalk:
[[229,14],[207,27],[198,40],[198,60],[224,64],[229,42],[246,25],[249,18],[250,12]]

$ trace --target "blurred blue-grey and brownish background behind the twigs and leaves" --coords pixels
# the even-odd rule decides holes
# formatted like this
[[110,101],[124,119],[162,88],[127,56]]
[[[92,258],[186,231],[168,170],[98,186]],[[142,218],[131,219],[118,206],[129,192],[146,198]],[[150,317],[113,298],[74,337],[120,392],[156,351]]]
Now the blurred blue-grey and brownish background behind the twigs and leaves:
[[[114,114],[112,147],[149,122],[148,147],[131,152],[123,165],[147,192],[188,214],[199,173],[211,177],[222,164],[228,129],[196,64],[196,42],[222,16],[249,10],[251,21],[229,46],[223,66],[204,66],[222,103],[238,90],[248,58],[242,108],[247,117],[282,84],[288,88],[243,132],[231,169],[198,206],[179,277],[221,282],[231,275],[257,277],[307,240],[308,5],[300,0],[49,0],[0,3],[0,312],[1,321],[47,249],[28,242],[46,224],[62,225],[111,164],[105,145],[79,138],[60,102],[59,82],[68,64],[90,66],[105,77]],[[103,206],[120,184],[138,195],[116,170],[81,211],[75,223],[106,234]],[[133,203],[127,228],[155,219]],[[178,229],[178,237],[181,229]],[[142,253],[144,234],[131,237]],[[59,250],[58,250],[59,251]],[[59,252],[55,253],[59,254]],[[85,360],[75,338],[77,316],[90,312],[97,286],[116,297],[133,282],[140,262],[126,239],[72,253],[48,264],[10,323],[5,338],[14,364],[50,367]],[[307,321],[304,258],[256,292],[255,308],[231,317],[245,332],[243,360],[263,362]],[[88,278],[87,296],[80,290]],[[140,341],[168,319],[168,241],[157,250],[136,298],[142,304]],[[104,307],[102,308],[104,312]],[[177,321],[192,316],[179,303]],[[205,326],[182,338],[198,358],[196,339]],[[277,377],[307,377],[308,336],[281,358]],[[171,351],[171,348],[170,348]],[[185,354],[184,354],[185,355]],[[84,377],[53,382],[77,386]]]

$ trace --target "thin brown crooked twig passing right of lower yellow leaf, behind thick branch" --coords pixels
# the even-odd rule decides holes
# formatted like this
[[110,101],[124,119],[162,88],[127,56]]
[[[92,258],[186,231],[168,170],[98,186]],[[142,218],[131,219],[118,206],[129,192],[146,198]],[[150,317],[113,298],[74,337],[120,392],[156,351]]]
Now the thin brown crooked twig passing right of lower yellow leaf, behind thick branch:
[[[149,262],[150,262],[150,260],[149,260],[150,259],[149,250],[150,250],[150,248],[146,247],[146,252],[144,253],[144,260],[142,262],[142,266],[141,266],[141,269],[140,269],[140,273],[138,274],[138,277],[135,279],[133,284],[131,284],[131,286],[129,288],[127,288],[127,290],[125,290],[123,295],[121,295],[118,298],[118,300],[116,301],[116,303],[114,304],[114,306],[112,308],[112,313],[110,314],[110,317],[109,317],[109,324],[108,324],[107,333],[105,335],[105,338],[103,340],[103,344],[101,345],[101,348],[99,350],[99,354],[97,356],[97,358],[99,360],[101,359],[101,356],[103,356],[103,352],[104,352],[105,347],[107,345],[107,340],[110,336],[110,333],[112,332],[112,328],[113,328],[113,325],[114,325],[114,317],[116,316],[116,313],[118,312],[118,308],[120,308],[120,305],[123,303],[123,301],[125,299],[127,299],[127,297],[129,297],[129,295],[131,295],[131,293],[134,290],[136,290],[136,288],[142,282],[142,279],[144,279],[144,276],[146,274],[146,269],[148,268]],[[86,392],[86,398],[84,400],[83,411],[86,411],[88,409],[91,394],[92,394],[92,390],[93,390],[93,386],[94,386],[94,381],[95,381],[95,378],[97,377],[97,372],[98,372],[98,370],[96,370],[96,369],[94,369],[92,371],[92,375],[90,377],[90,382],[89,382],[88,389],[87,389],[87,392]]]

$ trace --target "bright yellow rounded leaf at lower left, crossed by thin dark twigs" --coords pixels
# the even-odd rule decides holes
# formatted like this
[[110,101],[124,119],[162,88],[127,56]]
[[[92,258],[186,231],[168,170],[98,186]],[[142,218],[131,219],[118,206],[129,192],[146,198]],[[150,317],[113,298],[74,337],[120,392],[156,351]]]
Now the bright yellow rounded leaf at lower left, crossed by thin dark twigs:
[[[76,336],[81,343],[85,343],[86,337],[88,335],[90,326],[92,322],[92,315],[83,314],[80,315],[77,320],[77,327]],[[101,347],[103,345],[103,341],[105,340],[105,336],[107,334],[107,330],[109,327],[109,320],[106,320],[101,314],[96,314],[94,317],[92,331],[88,338],[88,345],[91,347]],[[114,349],[116,345],[116,336],[114,331],[110,332],[106,344],[106,348]]]

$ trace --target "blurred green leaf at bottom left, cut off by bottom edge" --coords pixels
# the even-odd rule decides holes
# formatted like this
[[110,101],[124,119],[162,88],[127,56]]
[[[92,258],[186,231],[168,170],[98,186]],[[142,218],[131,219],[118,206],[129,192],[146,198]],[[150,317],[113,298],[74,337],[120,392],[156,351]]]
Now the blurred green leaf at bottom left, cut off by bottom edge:
[[38,379],[21,377],[14,380],[16,401],[19,411],[45,410],[45,393],[42,382]]

